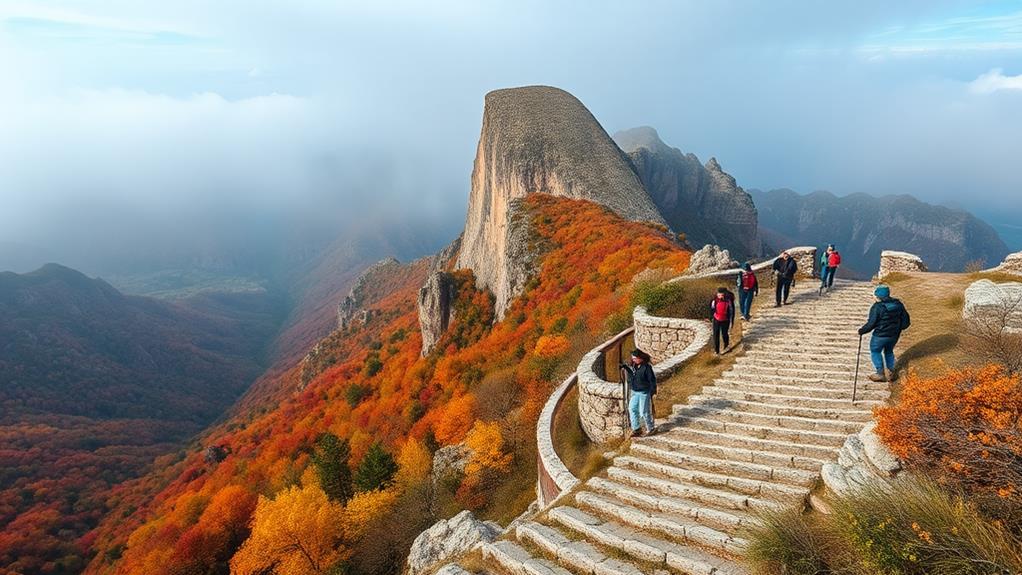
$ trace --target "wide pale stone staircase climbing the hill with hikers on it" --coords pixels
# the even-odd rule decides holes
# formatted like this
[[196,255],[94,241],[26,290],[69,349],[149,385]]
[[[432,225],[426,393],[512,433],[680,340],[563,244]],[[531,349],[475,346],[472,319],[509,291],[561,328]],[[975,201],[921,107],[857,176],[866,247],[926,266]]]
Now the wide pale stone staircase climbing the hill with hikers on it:
[[851,403],[855,330],[872,286],[837,281],[819,297],[818,284],[804,283],[780,308],[764,289],[734,367],[675,405],[660,433],[633,440],[604,476],[485,543],[486,572],[746,573],[743,526],[757,510],[804,505],[821,467],[889,395],[887,384],[866,381],[864,356]]

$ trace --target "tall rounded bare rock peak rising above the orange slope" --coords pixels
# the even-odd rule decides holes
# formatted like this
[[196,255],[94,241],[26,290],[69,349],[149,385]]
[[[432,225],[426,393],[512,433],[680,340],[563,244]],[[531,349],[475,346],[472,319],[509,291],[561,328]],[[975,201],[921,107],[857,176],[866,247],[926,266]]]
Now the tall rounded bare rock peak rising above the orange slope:
[[486,94],[457,267],[472,270],[477,287],[494,293],[498,319],[530,273],[514,256],[527,242],[512,225],[512,203],[531,193],[664,224],[625,155],[574,96],[546,86]]

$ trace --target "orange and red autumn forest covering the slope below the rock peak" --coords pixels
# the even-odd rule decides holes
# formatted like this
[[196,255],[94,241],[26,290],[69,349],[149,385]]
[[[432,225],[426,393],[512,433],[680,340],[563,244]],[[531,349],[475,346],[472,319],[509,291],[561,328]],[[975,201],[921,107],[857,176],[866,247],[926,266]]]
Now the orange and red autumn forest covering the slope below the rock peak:
[[[206,558],[208,573],[224,572],[217,567],[224,558],[237,573],[258,573],[272,561],[281,562],[279,573],[326,573],[341,563],[354,574],[389,573],[422,528],[459,508],[496,517],[499,499],[505,512],[520,512],[514,508],[527,504],[535,483],[536,418],[557,377],[630,305],[636,274],[680,272],[689,259],[666,234],[598,204],[533,194],[526,207],[542,247],[540,271],[504,321],[494,323],[493,296],[475,288],[471,272],[455,271],[454,320],[420,356],[416,301],[428,261],[408,265],[392,289],[367,302],[370,321],[320,342],[305,378],[299,366],[278,367],[202,436],[230,446],[226,460],[207,465],[196,447],[113,490],[113,511],[89,536],[95,557],[87,572],[184,572],[173,549],[228,489],[258,497],[250,517],[230,521],[251,535],[203,547],[196,557]],[[299,382],[306,385],[294,391]],[[325,449],[326,433],[347,450]],[[437,487],[432,452],[462,441],[471,449],[464,472]],[[326,451],[346,453],[361,489],[346,504],[329,471],[342,467],[324,465]],[[301,534],[313,560],[292,553],[299,542],[281,525]]]

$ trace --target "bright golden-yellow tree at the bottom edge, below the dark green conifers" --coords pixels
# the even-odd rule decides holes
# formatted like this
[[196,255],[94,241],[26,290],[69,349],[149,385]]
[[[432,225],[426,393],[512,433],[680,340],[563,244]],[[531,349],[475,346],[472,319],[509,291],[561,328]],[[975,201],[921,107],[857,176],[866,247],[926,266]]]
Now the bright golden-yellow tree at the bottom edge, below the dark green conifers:
[[291,487],[273,499],[261,496],[251,535],[231,559],[231,573],[326,573],[344,559],[340,548],[343,511],[315,485]]

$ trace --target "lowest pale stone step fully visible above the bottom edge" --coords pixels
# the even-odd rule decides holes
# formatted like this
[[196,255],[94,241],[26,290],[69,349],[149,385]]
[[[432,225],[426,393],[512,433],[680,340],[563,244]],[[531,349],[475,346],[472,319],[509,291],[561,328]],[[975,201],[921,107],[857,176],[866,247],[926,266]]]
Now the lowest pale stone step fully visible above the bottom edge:
[[551,521],[578,532],[587,540],[596,541],[647,564],[662,565],[686,575],[744,573],[726,559],[647,535],[614,521],[603,521],[575,508],[558,507],[548,515]]

